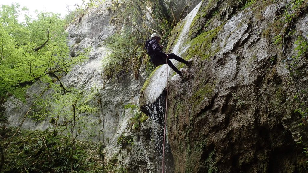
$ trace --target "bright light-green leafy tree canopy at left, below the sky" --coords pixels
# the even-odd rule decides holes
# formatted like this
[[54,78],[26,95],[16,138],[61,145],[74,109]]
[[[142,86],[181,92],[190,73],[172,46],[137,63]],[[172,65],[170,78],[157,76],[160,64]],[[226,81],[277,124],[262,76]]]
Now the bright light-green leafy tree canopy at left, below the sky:
[[65,22],[59,14],[41,12],[37,19],[25,15],[25,22],[18,22],[19,12],[18,4],[0,9],[0,96],[9,92],[23,99],[25,86],[41,78],[51,82],[83,62],[89,50],[69,56]]

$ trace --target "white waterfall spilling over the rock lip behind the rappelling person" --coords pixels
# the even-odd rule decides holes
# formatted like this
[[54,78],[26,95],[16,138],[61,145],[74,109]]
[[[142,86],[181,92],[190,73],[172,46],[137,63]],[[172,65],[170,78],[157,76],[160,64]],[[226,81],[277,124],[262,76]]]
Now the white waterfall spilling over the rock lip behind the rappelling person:
[[[178,42],[174,46],[173,53],[181,55],[189,45],[183,46],[183,40],[188,35],[189,27],[196,16],[202,2],[200,2],[184,19],[183,30],[179,36]],[[182,49],[180,49],[182,45]],[[163,153],[163,138],[164,138],[164,116],[166,108],[166,82],[167,73],[166,65],[161,66],[150,78],[150,84],[145,90],[145,97],[147,98],[147,108],[149,116],[152,118],[153,127],[151,131],[152,152],[155,172],[162,172],[162,153]],[[168,67],[168,72],[170,72]],[[170,72],[169,74],[173,73]],[[170,76],[170,75],[169,75]],[[168,131],[166,129],[166,134]],[[165,172],[174,172],[174,161],[171,153],[171,149],[168,143],[168,135],[166,135],[165,141],[165,156],[164,156]]]

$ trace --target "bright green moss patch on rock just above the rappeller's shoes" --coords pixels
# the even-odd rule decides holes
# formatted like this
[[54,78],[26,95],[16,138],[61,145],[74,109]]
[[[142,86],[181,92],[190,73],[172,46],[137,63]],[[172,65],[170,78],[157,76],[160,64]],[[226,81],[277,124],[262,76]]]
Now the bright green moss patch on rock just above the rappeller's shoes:
[[185,59],[193,58],[194,56],[201,57],[201,60],[209,59],[214,53],[211,51],[212,42],[216,38],[218,32],[223,27],[223,24],[217,28],[204,32],[198,35],[191,41],[191,46],[187,50],[188,55]]

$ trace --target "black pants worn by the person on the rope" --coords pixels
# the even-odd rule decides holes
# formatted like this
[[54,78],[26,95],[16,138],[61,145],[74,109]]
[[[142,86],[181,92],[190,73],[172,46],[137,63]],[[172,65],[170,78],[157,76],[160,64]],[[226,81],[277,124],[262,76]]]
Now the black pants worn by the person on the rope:
[[[172,62],[170,61],[170,59],[175,59],[176,61],[179,61],[179,62],[182,62],[184,64],[187,64],[188,62],[185,60],[185,59],[182,59],[181,57],[177,56],[176,54],[168,54],[168,66],[174,70],[177,74],[181,74],[180,70],[178,70],[173,64]],[[166,58],[162,58],[160,56],[156,56],[155,54],[154,55],[151,55],[151,62],[156,65],[156,66],[159,66],[159,65],[162,65],[162,64],[165,64],[166,63]]]

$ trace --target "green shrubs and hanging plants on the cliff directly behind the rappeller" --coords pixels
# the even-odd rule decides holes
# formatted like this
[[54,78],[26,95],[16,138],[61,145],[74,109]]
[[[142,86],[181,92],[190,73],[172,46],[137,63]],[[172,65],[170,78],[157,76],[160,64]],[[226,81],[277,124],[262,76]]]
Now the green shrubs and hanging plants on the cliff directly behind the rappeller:
[[[149,58],[146,56],[144,41],[155,30],[156,33],[161,35],[162,42],[168,42],[167,36],[172,31],[172,26],[175,25],[175,18],[172,17],[171,10],[167,7],[168,3],[172,6],[174,2],[124,0],[121,2],[114,1],[108,8],[108,10],[114,12],[110,22],[116,26],[124,26],[124,29],[119,31],[121,34],[115,34],[107,40],[107,44],[110,45],[112,51],[104,63],[104,76],[107,80],[110,78],[120,80],[125,74],[128,74],[129,70],[133,71],[134,77],[137,79],[142,64],[146,65],[147,75],[154,70],[155,66],[149,62]],[[148,14],[146,14],[147,10],[145,9],[148,9],[148,7],[152,9],[151,18],[148,18]],[[147,22],[153,20],[155,25],[149,28]],[[115,45],[114,40],[117,40],[116,42],[120,45]]]

